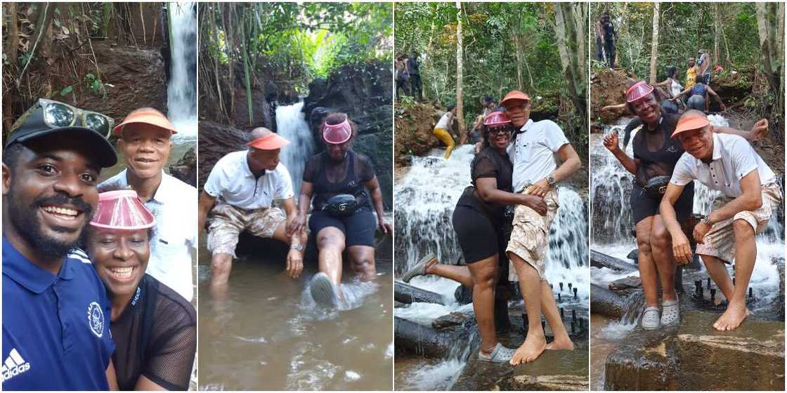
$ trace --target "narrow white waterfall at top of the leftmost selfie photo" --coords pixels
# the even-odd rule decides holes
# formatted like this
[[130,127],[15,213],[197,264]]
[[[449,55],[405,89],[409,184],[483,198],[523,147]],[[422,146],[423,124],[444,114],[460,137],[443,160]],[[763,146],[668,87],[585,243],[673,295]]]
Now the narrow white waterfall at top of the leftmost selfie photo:
[[197,16],[191,2],[167,3],[169,10],[170,78],[168,117],[176,138],[197,137]]

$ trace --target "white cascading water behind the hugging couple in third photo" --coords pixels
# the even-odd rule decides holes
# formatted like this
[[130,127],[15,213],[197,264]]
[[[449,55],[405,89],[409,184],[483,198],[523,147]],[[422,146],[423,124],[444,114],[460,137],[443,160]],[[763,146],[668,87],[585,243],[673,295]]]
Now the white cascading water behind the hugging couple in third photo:
[[[454,149],[450,160],[442,160],[443,151],[436,149],[429,156],[412,157],[412,165],[401,182],[397,182],[394,237],[397,274],[401,275],[417,261],[434,253],[442,263],[456,263],[461,249],[453,232],[451,216],[464,188],[470,185],[470,163],[474,146]],[[586,260],[587,226],[582,198],[573,189],[560,187],[560,208],[549,234],[549,261],[546,275],[550,282],[573,282],[578,288],[578,303],[587,304],[589,283]],[[445,306],[412,303],[394,309],[394,315],[422,325],[452,311],[471,312],[472,304],[460,305],[454,299],[459,286],[442,277],[416,277],[411,282],[419,288],[437,292]],[[519,299],[521,301],[521,299]],[[465,365],[469,343],[457,342],[446,358],[436,365],[424,365],[408,376],[408,388],[418,390],[446,389]]]

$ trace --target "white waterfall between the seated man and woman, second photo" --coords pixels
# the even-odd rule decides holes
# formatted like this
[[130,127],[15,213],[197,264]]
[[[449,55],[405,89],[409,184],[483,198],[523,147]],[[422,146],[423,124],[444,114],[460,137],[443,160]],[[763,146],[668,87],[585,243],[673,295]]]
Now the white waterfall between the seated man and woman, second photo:
[[314,153],[314,136],[304,119],[303,101],[293,105],[276,107],[276,129],[279,135],[287,138],[290,145],[282,149],[282,163],[290,171],[297,203],[301,191],[301,180],[306,160]]

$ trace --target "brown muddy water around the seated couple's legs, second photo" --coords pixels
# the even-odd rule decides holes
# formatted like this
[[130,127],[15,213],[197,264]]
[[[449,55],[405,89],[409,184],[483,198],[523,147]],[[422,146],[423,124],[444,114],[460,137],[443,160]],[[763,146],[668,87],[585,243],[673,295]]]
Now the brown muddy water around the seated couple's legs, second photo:
[[371,283],[345,274],[348,304],[333,312],[318,309],[309,296],[316,263],[305,263],[303,276],[294,281],[282,261],[235,261],[222,300],[210,292],[204,246],[199,255],[200,390],[393,388],[390,255],[377,259],[378,277]]

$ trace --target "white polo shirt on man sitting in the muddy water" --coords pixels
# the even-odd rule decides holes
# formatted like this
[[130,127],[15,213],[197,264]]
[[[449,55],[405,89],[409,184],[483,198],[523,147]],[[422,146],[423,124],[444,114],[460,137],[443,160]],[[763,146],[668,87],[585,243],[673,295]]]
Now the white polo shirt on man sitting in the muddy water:
[[255,178],[249,169],[246,152],[248,150],[231,152],[221,157],[208,175],[205,193],[246,210],[270,208],[274,200],[295,195],[290,172],[283,163],[274,171],[265,171],[260,178]]

